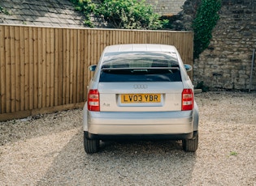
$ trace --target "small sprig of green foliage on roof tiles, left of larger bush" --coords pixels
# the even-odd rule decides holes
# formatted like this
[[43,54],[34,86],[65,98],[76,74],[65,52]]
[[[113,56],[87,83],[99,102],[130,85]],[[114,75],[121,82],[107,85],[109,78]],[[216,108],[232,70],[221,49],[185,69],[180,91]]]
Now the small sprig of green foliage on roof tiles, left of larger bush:
[[85,15],[85,25],[93,27],[90,16],[95,11],[95,4],[91,0],[70,0],[75,5],[76,11],[81,11]]

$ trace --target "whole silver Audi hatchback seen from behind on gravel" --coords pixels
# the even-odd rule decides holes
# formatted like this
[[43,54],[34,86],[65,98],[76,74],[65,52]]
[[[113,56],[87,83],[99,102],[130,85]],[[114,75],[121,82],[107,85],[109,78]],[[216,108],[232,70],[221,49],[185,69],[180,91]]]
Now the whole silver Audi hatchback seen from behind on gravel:
[[198,146],[198,108],[193,84],[174,46],[119,44],[104,49],[89,82],[83,109],[85,152],[101,140],[182,140]]

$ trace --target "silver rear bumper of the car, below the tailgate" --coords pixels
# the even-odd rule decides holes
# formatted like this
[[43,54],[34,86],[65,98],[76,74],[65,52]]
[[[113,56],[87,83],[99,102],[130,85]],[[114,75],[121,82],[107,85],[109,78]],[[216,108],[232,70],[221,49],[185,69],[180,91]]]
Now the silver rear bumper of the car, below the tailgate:
[[[193,111],[186,112],[88,112],[89,138],[153,136],[193,137]],[[165,137],[164,137],[165,136]]]

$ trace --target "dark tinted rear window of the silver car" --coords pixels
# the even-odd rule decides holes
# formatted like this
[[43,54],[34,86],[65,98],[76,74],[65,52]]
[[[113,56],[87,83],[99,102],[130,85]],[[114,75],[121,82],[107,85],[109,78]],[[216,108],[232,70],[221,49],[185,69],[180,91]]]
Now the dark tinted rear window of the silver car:
[[180,82],[176,53],[106,53],[100,82]]

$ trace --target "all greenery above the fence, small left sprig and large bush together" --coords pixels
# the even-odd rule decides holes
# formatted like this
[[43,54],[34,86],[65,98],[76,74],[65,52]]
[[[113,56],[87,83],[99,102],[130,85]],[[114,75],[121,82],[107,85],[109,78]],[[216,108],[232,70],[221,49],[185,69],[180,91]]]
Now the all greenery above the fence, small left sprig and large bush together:
[[70,0],[76,11],[85,15],[85,25],[93,27],[90,15],[103,16],[114,27],[125,29],[160,29],[166,27],[167,19],[159,20],[151,6],[137,0],[102,0],[98,5],[91,0]]

